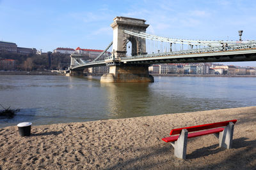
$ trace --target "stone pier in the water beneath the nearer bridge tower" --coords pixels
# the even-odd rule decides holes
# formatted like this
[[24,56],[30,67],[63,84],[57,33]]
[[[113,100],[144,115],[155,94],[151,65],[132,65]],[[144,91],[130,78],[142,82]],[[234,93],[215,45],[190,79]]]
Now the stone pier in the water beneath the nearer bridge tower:
[[109,73],[100,78],[101,82],[154,82],[148,74],[148,66],[109,66]]

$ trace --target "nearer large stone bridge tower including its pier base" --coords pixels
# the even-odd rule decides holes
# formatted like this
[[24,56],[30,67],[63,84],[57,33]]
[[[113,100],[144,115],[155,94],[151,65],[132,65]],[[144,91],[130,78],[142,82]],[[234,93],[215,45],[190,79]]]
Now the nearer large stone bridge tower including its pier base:
[[132,32],[146,32],[146,20],[129,17],[115,17],[111,24],[113,28],[113,64],[109,66],[109,74],[104,74],[103,82],[152,82],[154,78],[148,74],[147,65],[129,65],[118,62],[120,57],[126,57],[127,43],[132,44],[132,55],[146,53],[146,42],[135,36],[125,34],[124,30]]

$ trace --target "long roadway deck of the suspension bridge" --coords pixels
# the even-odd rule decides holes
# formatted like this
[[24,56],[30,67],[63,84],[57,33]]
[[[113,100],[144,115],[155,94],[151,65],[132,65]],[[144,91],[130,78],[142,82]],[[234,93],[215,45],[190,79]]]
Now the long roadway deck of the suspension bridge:
[[[211,49],[207,49],[211,50]],[[109,59],[80,64],[70,69],[82,70],[86,67],[106,66],[109,62],[119,64],[164,64],[164,63],[186,63],[186,62],[234,62],[234,61],[256,61],[256,48],[245,48],[236,50],[208,51],[193,50],[183,52],[154,53],[151,55],[138,55],[122,57],[120,59]]]

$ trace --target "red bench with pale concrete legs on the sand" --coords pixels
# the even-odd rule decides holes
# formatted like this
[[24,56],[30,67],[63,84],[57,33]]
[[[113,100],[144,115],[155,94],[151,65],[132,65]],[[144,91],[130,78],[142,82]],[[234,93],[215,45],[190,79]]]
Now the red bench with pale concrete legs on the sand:
[[170,132],[171,136],[163,138],[162,140],[165,142],[170,142],[174,147],[174,155],[181,159],[186,159],[188,138],[194,138],[206,134],[214,134],[217,138],[219,138],[219,146],[229,149],[232,145],[234,124],[236,124],[236,122],[237,120],[228,120],[225,122],[217,122],[213,124],[172,129]]

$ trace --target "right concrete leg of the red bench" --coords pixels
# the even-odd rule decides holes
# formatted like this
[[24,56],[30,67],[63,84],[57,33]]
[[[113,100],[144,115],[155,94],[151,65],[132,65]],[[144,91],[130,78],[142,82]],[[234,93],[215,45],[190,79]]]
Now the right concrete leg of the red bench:
[[225,129],[219,134],[220,147],[230,149],[234,133],[234,123],[229,122]]

